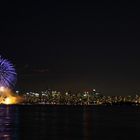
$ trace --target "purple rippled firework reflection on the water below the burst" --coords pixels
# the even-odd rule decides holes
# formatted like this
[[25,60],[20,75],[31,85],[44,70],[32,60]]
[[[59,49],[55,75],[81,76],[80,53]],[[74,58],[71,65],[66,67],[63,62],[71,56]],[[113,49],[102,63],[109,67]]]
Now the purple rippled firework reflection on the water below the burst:
[[18,113],[12,106],[0,106],[0,140],[18,139]]

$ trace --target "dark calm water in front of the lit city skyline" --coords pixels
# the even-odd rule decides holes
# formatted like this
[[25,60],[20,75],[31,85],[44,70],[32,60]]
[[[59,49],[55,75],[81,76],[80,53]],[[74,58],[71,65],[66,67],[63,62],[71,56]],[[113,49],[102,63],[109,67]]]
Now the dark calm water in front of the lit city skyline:
[[0,140],[132,140],[140,107],[0,106]]

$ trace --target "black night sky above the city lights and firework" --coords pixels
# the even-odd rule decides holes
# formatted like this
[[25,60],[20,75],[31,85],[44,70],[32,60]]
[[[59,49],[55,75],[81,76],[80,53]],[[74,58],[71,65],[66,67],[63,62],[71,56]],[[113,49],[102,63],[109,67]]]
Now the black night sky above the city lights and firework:
[[140,93],[138,3],[46,1],[1,4],[0,54],[17,88]]

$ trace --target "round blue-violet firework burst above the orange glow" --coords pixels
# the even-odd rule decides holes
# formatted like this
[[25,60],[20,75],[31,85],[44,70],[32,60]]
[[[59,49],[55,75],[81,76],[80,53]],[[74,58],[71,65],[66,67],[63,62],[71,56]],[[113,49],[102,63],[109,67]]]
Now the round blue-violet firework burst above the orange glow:
[[14,66],[7,59],[0,56],[0,86],[13,88],[16,80],[17,74]]

